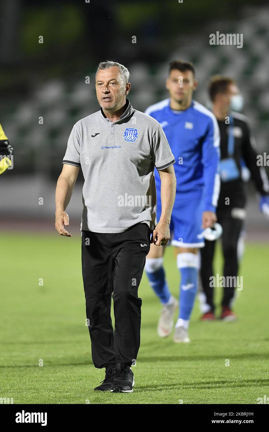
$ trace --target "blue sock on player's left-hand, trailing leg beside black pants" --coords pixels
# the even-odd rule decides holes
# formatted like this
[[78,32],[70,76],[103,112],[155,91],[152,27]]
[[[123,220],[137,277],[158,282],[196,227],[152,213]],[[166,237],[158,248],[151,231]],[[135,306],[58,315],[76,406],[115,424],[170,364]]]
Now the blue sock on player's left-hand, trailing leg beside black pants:
[[149,283],[155,294],[158,295],[161,303],[169,302],[171,294],[165,280],[165,270],[162,265],[162,258],[146,258],[145,270]]

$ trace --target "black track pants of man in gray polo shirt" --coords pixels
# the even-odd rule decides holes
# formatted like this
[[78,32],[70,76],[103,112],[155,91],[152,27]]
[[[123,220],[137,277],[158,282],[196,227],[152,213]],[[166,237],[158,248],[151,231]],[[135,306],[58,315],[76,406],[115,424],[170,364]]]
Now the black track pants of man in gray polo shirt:
[[[149,253],[150,229],[139,223],[116,234],[82,231],[86,317],[96,368],[136,361],[142,300],[138,287]],[[113,292],[115,329],[111,322]]]

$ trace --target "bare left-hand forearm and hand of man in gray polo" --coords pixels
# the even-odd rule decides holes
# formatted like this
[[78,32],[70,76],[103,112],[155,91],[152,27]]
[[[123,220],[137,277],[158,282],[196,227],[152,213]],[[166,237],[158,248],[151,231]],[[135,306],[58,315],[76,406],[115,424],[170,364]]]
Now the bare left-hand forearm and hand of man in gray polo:
[[60,235],[71,237],[71,234],[64,229],[64,225],[69,225],[69,217],[65,209],[72,197],[73,189],[79,174],[79,167],[63,164],[63,170],[57,181],[55,192],[55,228]]

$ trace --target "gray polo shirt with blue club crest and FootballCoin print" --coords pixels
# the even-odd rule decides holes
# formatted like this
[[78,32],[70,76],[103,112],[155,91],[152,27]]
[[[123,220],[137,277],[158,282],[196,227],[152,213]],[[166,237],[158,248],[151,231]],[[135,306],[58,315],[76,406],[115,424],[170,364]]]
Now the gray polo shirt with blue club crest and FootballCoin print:
[[174,163],[158,121],[133,109],[117,121],[102,109],[79,120],[70,134],[63,163],[82,168],[83,212],[81,229],[124,232],[144,222],[155,227],[154,167]]

